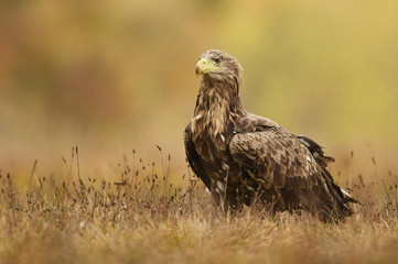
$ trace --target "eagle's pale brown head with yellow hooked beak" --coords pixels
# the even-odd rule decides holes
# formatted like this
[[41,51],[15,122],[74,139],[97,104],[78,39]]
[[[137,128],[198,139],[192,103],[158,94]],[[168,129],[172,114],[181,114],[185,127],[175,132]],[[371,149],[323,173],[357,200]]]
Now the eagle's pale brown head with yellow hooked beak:
[[239,62],[229,54],[209,50],[203,53],[196,64],[195,73],[207,80],[235,80],[240,82],[243,68]]

